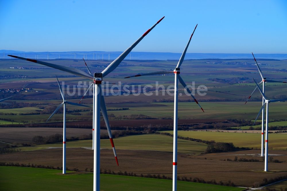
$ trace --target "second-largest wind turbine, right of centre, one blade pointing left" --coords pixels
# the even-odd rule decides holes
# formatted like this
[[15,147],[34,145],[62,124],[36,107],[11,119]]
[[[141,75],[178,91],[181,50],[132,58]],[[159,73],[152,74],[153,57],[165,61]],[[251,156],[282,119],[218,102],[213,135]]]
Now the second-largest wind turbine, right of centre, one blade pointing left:
[[172,170],[172,190],[175,191],[177,190],[177,121],[178,121],[178,114],[177,114],[177,104],[178,104],[178,80],[179,82],[183,85],[183,87],[187,90],[188,93],[190,93],[191,97],[194,99],[194,101],[197,103],[197,105],[201,108],[201,110],[204,112],[202,107],[199,105],[195,97],[192,95],[191,91],[187,87],[186,83],[183,81],[183,79],[180,77],[180,66],[183,63],[185,53],[187,51],[187,48],[189,46],[189,43],[191,41],[191,38],[193,36],[193,33],[196,29],[197,25],[195,26],[189,41],[181,55],[181,58],[179,59],[179,62],[177,66],[175,67],[174,71],[158,71],[158,72],[151,72],[151,73],[145,73],[145,74],[139,74],[139,75],[134,75],[134,76],[129,76],[125,78],[130,78],[130,77],[138,77],[138,76],[146,76],[146,75],[154,75],[154,74],[167,74],[167,73],[174,73],[174,118],[173,118],[173,170]]

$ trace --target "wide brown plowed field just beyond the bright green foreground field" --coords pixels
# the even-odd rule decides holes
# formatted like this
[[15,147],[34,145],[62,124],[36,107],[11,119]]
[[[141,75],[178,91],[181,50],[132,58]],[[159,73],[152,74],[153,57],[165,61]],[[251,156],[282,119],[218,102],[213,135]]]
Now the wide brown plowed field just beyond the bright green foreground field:
[[[213,153],[205,155],[178,155],[178,176],[187,178],[203,178],[227,182],[230,180],[236,186],[252,186],[263,178],[274,178],[286,175],[287,156],[272,156],[281,163],[269,163],[269,172],[263,172],[264,163],[261,157],[245,154],[257,154],[259,150],[238,151],[230,153]],[[164,174],[172,176],[172,153],[159,151],[118,150],[119,167],[115,163],[113,151],[101,150],[101,169],[111,171],[127,171],[140,174]],[[270,151],[270,154],[287,155],[287,151]],[[239,158],[259,159],[260,162],[223,161],[223,159]],[[206,159],[205,159],[206,158]],[[62,166],[62,149],[45,149],[0,155],[0,162],[24,163],[30,165]],[[67,149],[67,167],[90,171],[93,168],[93,151],[81,148]]]

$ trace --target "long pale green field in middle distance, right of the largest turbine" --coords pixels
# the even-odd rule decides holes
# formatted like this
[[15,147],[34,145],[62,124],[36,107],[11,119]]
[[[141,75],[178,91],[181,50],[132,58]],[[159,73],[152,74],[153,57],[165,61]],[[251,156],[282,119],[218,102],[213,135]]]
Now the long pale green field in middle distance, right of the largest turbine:
[[[113,113],[115,116],[144,114],[155,118],[173,118],[173,102],[151,103],[150,106],[148,103],[146,106],[139,104],[141,106],[138,106],[138,103],[110,104],[110,106],[113,106],[111,108],[121,106],[128,107],[129,110],[108,111],[108,114]],[[179,102],[178,116],[179,119],[255,119],[261,108],[261,102],[250,102],[248,104],[244,105],[244,102],[201,102],[200,105],[204,109],[203,113],[195,102]],[[107,106],[109,109],[109,104]],[[282,102],[270,104],[269,119],[287,119],[285,107],[286,103]]]

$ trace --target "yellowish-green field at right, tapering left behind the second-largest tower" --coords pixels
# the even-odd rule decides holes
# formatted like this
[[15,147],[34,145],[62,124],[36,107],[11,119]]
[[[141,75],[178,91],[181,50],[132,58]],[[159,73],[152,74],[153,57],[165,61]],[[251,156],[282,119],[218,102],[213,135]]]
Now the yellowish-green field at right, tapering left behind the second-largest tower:
[[[173,131],[164,131],[173,134]],[[211,131],[178,131],[182,137],[191,137],[201,140],[233,143],[236,147],[261,148],[261,133],[235,133]],[[268,148],[274,150],[287,149],[287,134],[270,133]]]

